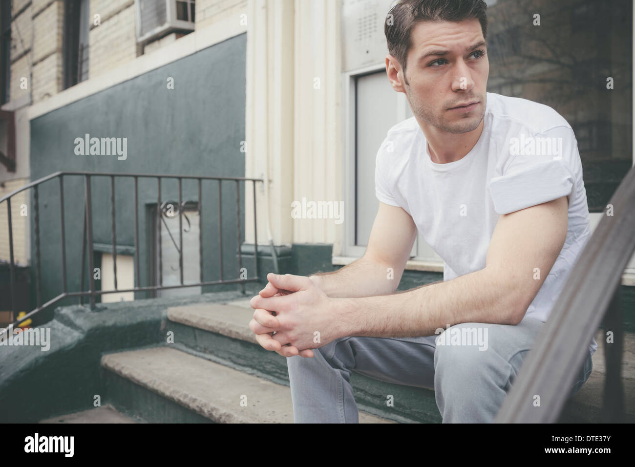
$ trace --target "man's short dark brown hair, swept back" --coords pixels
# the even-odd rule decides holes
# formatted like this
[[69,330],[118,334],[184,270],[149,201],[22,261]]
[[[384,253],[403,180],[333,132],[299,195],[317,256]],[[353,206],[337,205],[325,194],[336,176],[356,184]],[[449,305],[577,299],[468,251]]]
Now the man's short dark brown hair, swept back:
[[486,10],[487,5],[483,0],[401,0],[391,8],[384,22],[388,51],[405,71],[411,46],[410,33],[422,21],[478,19],[483,38],[487,39]]

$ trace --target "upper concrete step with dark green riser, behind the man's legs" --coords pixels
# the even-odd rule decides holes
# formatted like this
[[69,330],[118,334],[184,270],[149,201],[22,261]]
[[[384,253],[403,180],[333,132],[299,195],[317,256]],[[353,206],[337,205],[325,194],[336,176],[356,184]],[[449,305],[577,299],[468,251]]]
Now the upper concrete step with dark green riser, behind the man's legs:
[[[248,327],[253,316],[250,299],[214,304],[194,304],[168,308],[169,330],[175,331],[178,348],[206,355],[234,368],[288,384],[286,359],[262,349]],[[565,405],[561,423],[598,423],[604,390],[603,332],[596,333],[598,350],[594,353],[589,380]],[[635,334],[625,333],[622,358],[625,421],[635,421]],[[434,391],[377,381],[355,372],[351,384],[360,408],[401,422],[437,423],[441,421]],[[387,395],[393,395],[395,407],[386,407]]]

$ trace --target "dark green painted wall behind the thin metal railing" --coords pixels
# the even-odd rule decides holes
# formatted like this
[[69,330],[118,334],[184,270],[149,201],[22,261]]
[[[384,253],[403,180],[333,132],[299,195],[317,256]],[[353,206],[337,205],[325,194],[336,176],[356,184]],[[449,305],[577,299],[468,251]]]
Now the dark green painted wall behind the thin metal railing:
[[[36,180],[58,170],[244,177],[246,34],[149,71],[31,121],[30,170]],[[167,79],[174,79],[168,89]],[[78,156],[75,139],[126,137],[128,157]],[[244,183],[241,238],[244,239]],[[147,210],[156,205],[156,179],[139,179],[141,285],[149,283]],[[222,184],[224,278],[237,278],[236,182]],[[117,245],[134,245],[133,179],[116,179]],[[64,178],[69,290],[79,290],[83,177]],[[161,199],[178,200],[177,180],[162,180]],[[197,200],[197,184],[184,180],[183,200]],[[94,243],[111,243],[110,179],[92,180]],[[32,290],[35,273],[32,202]],[[43,302],[62,292],[58,182],[39,188]],[[218,280],[218,182],[203,182],[204,280]],[[226,228],[225,228],[226,227]],[[248,269],[249,274],[250,269]],[[86,281],[88,288],[88,281]],[[231,286],[236,288],[236,285]],[[219,290],[216,288],[215,290]],[[35,307],[35,293],[32,293]],[[77,299],[62,304],[76,303]],[[50,316],[50,313],[48,313]],[[44,315],[44,319],[48,316]]]

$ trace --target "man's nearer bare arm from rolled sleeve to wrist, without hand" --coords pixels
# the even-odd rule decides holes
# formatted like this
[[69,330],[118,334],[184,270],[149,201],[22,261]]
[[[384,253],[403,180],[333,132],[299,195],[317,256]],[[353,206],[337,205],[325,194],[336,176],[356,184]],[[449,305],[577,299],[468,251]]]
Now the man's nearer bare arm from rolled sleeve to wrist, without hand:
[[408,337],[465,322],[518,324],[551,271],[566,230],[566,197],[501,215],[485,268],[401,294],[336,299],[336,334]]

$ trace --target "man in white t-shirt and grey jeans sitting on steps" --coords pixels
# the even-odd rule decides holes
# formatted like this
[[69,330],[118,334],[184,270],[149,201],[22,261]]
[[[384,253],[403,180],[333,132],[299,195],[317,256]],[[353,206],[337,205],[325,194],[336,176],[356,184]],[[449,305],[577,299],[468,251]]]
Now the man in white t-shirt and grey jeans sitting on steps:
[[[270,273],[251,299],[257,341],[288,357],[296,423],[357,423],[351,371],[434,389],[444,422],[491,422],[589,240],[571,126],[486,92],[486,8],[391,9],[386,72],[414,116],[377,152],[366,252],[333,273]],[[417,232],[443,258],[443,282],[394,293]]]

